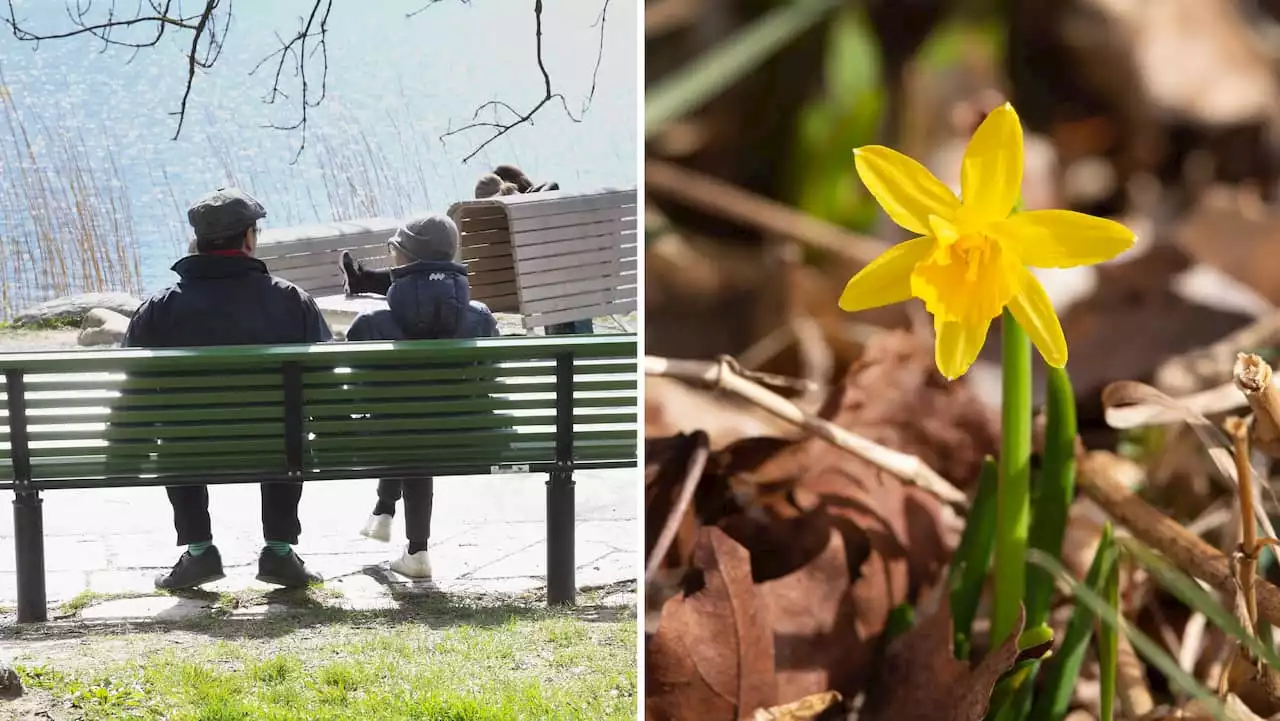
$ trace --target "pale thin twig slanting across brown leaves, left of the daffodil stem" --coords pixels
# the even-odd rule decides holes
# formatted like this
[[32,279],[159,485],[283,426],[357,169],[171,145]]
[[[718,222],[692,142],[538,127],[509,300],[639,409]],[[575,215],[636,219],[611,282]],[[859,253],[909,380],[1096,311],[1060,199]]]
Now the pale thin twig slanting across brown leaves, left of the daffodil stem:
[[744,378],[737,371],[737,362],[727,356],[723,356],[718,362],[645,356],[644,371],[645,375],[678,378],[708,388],[730,391],[774,416],[804,428],[832,446],[849,451],[906,483],[919,485],[957,508],[969,507],[969,498],[963,490],[943,479],[916,456],[881,446],[826,419],[805,412],[782,396]]

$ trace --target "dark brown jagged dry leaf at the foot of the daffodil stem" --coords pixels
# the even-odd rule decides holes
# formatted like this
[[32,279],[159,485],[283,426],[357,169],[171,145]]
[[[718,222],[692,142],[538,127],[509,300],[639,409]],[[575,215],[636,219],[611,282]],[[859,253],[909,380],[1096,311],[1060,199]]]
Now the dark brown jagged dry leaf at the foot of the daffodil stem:
[[867,689],[859,721],[982,721],[991,692],[1018,658],[1024,616],[1009,639],[970,668],[952,654],[951,606],[888,644],[879,674]]

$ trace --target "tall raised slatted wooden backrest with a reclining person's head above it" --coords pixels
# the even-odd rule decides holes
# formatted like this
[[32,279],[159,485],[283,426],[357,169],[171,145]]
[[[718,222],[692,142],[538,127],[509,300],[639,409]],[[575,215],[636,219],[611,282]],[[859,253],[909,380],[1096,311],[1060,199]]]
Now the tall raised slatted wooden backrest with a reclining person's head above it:
[[525,328],[636,310],[634,188],[467,200],[449,216],[472,259],[472,295],[520,312]]

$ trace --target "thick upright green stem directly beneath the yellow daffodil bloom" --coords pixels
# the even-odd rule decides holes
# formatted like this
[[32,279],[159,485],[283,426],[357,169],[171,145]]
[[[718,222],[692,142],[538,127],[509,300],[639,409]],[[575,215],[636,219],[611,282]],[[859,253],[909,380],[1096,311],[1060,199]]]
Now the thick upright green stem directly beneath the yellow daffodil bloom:
[[1027,533],[1030,519],[1032,346],[1009,310],[1001,341],[1002,412],[1000,488],[996,492],[996,598],[991,647],[1018,625],[1027,588]]

